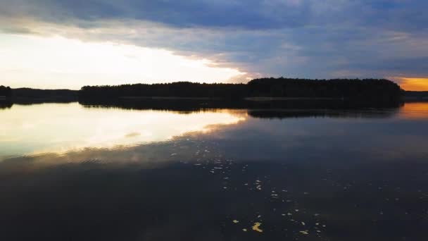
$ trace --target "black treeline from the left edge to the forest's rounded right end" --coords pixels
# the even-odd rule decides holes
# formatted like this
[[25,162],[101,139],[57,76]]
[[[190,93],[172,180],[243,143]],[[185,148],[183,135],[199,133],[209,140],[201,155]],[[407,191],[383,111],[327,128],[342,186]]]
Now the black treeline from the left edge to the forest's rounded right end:
[[[128,99],[222,99],[227,101],[334,99],[355,103],[398,103],[407,92],[395,82],[379,79],[308,80],[260,78],[247,84],[171,82],[164,84],[84,86],[70,89],[11,89],[0,86],[0,96],[13,101],[25,99],[61,101],[115,101]],[[415,94],[413,94],[415,95]],[[147,100],[146,100],[147,101]]]

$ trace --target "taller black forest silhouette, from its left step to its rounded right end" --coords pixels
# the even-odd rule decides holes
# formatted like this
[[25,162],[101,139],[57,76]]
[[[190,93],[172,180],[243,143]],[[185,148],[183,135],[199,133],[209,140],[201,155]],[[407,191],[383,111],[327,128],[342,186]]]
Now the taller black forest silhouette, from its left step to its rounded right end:
[[82,99],[118,97],[195,97],[243,99],[246,97],[330,98],[360,101],[399,101],[403,90],[390,80],[308,80],[260,78],[247,84],[172,82],[115,86],[84,86]]

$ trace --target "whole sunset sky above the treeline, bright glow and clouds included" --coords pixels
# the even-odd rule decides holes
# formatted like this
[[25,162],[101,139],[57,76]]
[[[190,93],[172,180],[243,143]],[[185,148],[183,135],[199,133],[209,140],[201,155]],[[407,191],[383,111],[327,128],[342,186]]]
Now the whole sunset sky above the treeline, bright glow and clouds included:
[[0,0],[0,85],[387,78],[428,90],[426,0]]

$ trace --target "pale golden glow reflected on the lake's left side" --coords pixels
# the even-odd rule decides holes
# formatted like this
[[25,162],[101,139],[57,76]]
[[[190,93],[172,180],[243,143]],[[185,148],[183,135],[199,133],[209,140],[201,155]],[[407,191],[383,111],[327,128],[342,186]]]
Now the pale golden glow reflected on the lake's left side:
[[236,124],[246,116],[236,111],[96,109],[74,103],[13,105],[0,111],[0,119],[1,157],[162,142],[187,132]]

